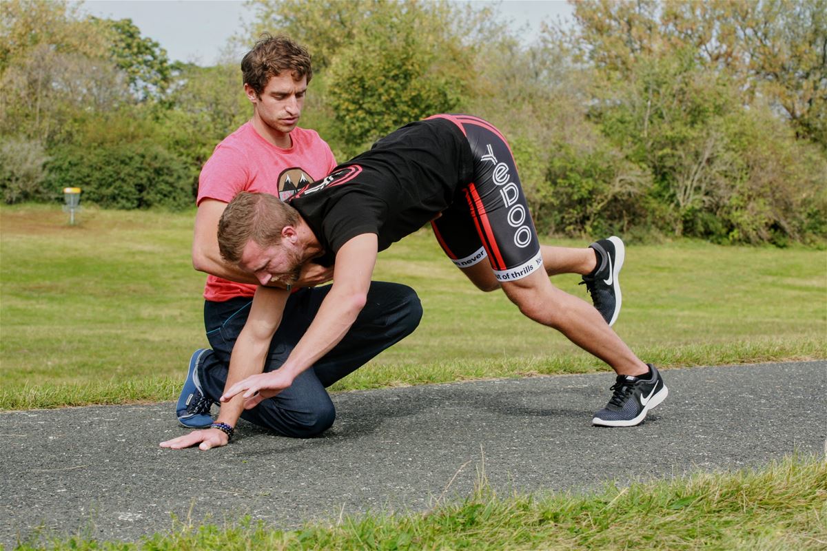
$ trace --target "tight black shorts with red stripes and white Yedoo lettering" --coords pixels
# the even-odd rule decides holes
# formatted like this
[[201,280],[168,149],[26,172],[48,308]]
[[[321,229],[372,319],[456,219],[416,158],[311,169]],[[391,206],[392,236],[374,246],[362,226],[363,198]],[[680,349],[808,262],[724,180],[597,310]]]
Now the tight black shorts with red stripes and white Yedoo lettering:
[[435,115],[459,126],[471,145],[474,177],[431,223],[442,250],[459,268],[489,259],[498,281],[543,267],[540,241],[520,187],[514,155],[503,135],[476,116]]

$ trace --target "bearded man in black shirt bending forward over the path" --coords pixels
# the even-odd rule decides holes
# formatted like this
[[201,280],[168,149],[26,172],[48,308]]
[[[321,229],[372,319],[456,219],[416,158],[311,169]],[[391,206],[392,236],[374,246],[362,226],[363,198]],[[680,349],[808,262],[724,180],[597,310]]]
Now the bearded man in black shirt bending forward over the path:
[[[229,204],[218,230],[222,256],[262,283],[244,329],[249,345],[233,352],[243,354],[243,361],[263,361],[280,322],[286,293],[263,287],[266,283],[290,283],[306,262],[335,261],[336,269],[318,315],[281,368],[237,383],[222,401],[243,392],[246,407],[254,407],[289,387],[347,333],[365,304],[378,251],[428,221],[442,248],[478,287],[502,288],[525,316],[560,330],[614,369],[614,394],[595,414],[595,425],[638,425],[667,396],[657,369],[638,359],[609,327],[616,311],[601,316],[549,282],[546,253],[500,132],[473,116],[439,115],[377,141],[300,190],[289,206],[251,193]],[[590,278],[614,289],[622,242],[603,241],[603,261]],[[480,262],[485,258],[488,263]],[[600,308],[596,301],[595,306]]]

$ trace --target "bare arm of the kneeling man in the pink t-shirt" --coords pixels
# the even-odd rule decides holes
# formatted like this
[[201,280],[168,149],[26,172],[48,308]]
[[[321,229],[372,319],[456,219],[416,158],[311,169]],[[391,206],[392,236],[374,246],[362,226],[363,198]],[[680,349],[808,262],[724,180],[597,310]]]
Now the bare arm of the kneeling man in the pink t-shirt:
[[[227,203],[216,199],[204,199],[198,205],[193,236],[193,268],[230,281],[258,285],[259,281],[256,276],[221,258],[221,252],[218,249],[218,221],[225,208],[227,208]],[[332,277],[332,268],[323,268],[318,264],[308,263],[302,267],[299,281],[294,284],[294,287],[313,287],[330,281]],[[281,286],[280,283],[274,285]]]

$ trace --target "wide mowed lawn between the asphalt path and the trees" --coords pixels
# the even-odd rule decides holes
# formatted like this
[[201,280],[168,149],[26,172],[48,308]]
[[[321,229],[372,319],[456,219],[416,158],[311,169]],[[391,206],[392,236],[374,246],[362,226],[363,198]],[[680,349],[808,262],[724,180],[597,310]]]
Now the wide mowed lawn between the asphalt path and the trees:
[[[88,208],[69,226],[60,207],[0,208],[0,408],[174,399],[207,344],[193,219]],[[375,278],[414,287],[422,324],[334,390],[608,370],[501,292],[476,290],[429,230],[380,254]],[[578,276],[552,281],[589,300]],[[615,329],[646,361],[827,357],[824,250],[630,243],[620,281]]]

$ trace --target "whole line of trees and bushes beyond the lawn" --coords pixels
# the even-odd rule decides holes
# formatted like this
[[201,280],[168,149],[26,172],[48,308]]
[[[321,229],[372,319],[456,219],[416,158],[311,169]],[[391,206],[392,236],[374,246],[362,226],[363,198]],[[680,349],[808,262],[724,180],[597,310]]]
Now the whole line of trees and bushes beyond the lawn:
[[[827,239],[827,0],[582,0],[519,32],[474,3],[253,0],[236,45],[313,55],[302,126],[337,159],[436,112],[505,132],[552,235]],[[130,20],[0,3],[0,192],[188,207],[213,147],[251,114],[240,59],[172,62]]]

